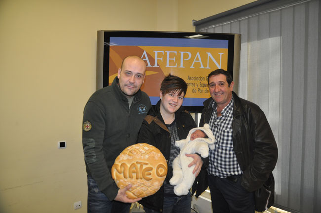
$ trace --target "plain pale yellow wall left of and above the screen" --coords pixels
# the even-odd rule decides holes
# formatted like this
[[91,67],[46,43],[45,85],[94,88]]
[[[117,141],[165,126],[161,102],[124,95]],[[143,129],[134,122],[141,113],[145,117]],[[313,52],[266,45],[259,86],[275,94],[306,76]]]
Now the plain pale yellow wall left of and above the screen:
[[194,31],[192,19],[252,1],[0,0],[0,212],[70,213],[80,200],[86,212],[97,30]]

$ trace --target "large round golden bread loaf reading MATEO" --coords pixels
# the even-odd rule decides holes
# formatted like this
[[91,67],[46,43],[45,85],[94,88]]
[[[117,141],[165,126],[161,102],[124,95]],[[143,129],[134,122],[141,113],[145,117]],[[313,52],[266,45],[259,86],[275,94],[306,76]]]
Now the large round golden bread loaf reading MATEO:
[[126,192],[127,197],[131,199],[157,192],[166,175],[165,157],[159,149],[146,143],[127,147],[115,159],[112,167],[112,177],[120,189],[132,184]]

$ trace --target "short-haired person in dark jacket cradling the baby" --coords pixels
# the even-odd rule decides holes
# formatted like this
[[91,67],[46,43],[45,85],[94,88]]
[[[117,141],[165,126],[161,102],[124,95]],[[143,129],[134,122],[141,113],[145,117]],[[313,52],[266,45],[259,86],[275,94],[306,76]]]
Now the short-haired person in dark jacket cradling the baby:
[[[161,100],[150,109],[138,134],[137,142],[148,143],[158,148],[168,164],[167,176],[161,189],[139,201],[146,213],[191,212],[191,193],[177,196],[173,191],[174,186],[169,184],[173,175],[172,162],[180,152],[175,146],[175,141],[185,139],[188,132],[196,127],[192,116],[181,107],[186,91],[187,84],[182,78],[167,75],[161,83]],[[207,163],[208,158],[202,159],[197,154],[189,156],[194,159],[190,166],[196,165],[193,172],[197,176],[203,161],[206,160]]]

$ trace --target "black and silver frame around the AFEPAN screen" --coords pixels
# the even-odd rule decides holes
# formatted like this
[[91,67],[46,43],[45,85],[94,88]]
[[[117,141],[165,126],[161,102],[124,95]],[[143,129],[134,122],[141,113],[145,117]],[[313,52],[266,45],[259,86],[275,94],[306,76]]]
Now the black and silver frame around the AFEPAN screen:
[[[159,31],[98,31],[97,32],[97,84],[96,89],[109,84],[109,44],[111,37],[146,37],[146,38],[184,38],[196,39],[191,36],[199,35],[197,39],[215,39],[228,41],[227,70],[232,77],[238,78],[241,50],[241,35],[226,33],[203,32],[159,32]],[[190,112],[200,113],[202,106],[184,106]]]

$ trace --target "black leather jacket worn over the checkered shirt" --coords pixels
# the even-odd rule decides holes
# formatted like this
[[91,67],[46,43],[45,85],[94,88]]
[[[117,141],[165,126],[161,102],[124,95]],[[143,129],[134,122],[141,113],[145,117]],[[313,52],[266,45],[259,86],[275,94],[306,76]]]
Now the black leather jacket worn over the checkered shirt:
[[[233,147],[243,171],[241,185],[247,191],[253,192],[261,188],[274,169],[278,158],[277,144],[260,107],[232,93]],[[213,102],[212,98],[204,102],[200,126],[209,122],[213,112]]]

